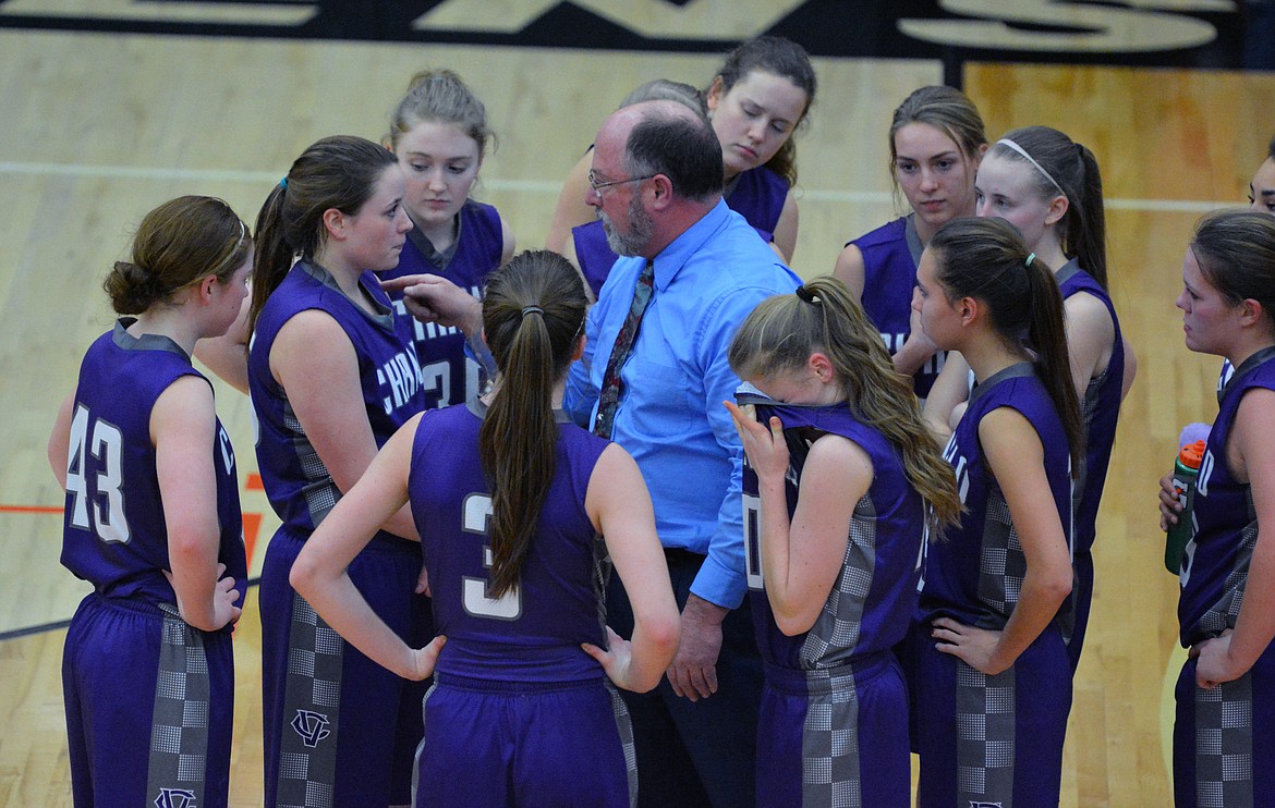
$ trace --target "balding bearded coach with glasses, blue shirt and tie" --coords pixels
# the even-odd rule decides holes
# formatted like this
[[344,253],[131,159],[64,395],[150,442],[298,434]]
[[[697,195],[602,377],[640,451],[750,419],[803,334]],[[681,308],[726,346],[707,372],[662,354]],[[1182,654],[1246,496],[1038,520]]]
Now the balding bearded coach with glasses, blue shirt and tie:
[[[687,107],[625,107],[598,131],[586,201],[621,257],[589,312],[564,407],[638,461],[682,640],[652,693],[625,693],[643,805],[751,805],[761,660],[745,602],[743,451],[723,400],[740,322],[799,279],[722,201],[722,147]],[[632,630],[613,580],[607,622]]]

